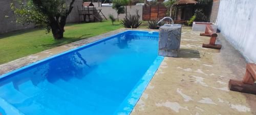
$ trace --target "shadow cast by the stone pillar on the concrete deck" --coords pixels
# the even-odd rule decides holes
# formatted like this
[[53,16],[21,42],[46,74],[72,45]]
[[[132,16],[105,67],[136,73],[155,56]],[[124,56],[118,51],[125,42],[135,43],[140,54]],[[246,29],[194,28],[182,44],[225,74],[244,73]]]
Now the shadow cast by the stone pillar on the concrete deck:
[[180,58],[201,58],[198,50],[180,49]]

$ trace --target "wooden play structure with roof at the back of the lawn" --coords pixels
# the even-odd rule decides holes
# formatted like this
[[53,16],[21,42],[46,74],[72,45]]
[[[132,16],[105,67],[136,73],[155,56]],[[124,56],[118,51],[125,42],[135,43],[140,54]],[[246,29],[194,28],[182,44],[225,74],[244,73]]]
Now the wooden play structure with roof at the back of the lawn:
[[78,6],[77,6],[77,9],[78,9],[79,22],[80,22],[80,16],[82,16],[84,22],[96,21],[96,19],[98,21],[101,21],[102,20],[101,16],[103,16],[106,19],[104,14],[101,12],[101,9],[97,10],[96,8],[94,8],[94,5],[92,2],[84,2],[82,5],[82,9],[79,10]]

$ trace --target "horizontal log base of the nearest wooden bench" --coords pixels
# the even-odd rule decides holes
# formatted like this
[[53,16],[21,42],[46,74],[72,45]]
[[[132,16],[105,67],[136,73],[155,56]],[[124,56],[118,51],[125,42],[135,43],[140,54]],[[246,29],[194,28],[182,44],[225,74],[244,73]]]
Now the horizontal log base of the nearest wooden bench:
[[243,83],[242,81],[230,79],[228,82],[228,87],[230,90],[233,90],[233,91],[239,91],[242,93],[256,95],[256,84],[255,83],[253,85],[251,85],[251,84]]

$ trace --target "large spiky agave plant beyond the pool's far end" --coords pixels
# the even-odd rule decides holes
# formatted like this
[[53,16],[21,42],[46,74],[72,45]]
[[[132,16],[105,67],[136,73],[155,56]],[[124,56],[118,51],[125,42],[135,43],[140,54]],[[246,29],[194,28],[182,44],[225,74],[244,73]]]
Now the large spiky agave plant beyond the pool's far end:
[[141,25],[140,15],[138,14],[138,10],[136,11],[136,15],[128,14],[121,20],[121,25],[125,28],[138,28]]

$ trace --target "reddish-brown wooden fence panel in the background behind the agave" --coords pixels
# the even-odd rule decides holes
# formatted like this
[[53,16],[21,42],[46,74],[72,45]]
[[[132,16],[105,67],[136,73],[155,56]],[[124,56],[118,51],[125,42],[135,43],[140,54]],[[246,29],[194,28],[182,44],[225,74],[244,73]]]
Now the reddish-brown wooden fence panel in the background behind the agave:
[[154,20],[166,16],[167,8],[163,5],[143,6],[142,20]]

